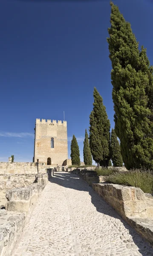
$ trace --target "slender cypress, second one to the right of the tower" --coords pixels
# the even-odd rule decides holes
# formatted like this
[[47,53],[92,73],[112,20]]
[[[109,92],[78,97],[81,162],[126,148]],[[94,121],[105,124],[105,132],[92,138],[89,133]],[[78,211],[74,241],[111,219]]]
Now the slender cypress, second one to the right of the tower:
[[89,138],[87,134],[87,129],[85,131],[85,138],[84,138],[84,164],[85,165],[92,165],[92,154],[89,146]]

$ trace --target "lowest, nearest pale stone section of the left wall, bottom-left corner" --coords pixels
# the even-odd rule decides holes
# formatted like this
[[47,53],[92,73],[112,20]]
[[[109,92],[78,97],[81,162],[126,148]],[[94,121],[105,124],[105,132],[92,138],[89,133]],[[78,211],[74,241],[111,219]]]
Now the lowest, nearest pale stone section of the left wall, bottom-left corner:
[[11,256],[25,224],[25,213],[0,210],[0,256]]

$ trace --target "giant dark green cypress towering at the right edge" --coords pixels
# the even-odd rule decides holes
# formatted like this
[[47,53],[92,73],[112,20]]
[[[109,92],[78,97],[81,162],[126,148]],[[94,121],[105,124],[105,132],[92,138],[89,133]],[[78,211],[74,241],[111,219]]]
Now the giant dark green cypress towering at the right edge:
[[107,41],[113,67],[115,133],[127,169],[153,168],[153,70],[146,50],[139,51],[130,23],[110,4]]

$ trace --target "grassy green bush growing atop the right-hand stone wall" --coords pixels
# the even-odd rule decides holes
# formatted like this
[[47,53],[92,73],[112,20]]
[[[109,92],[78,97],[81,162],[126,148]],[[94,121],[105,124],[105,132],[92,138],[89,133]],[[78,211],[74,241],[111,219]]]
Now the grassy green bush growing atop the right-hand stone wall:
[[114,184],[135,186],[144,193],[153,193],[153,172],[144,169],[130,170],[129,172],[115,172],[106,181]]

